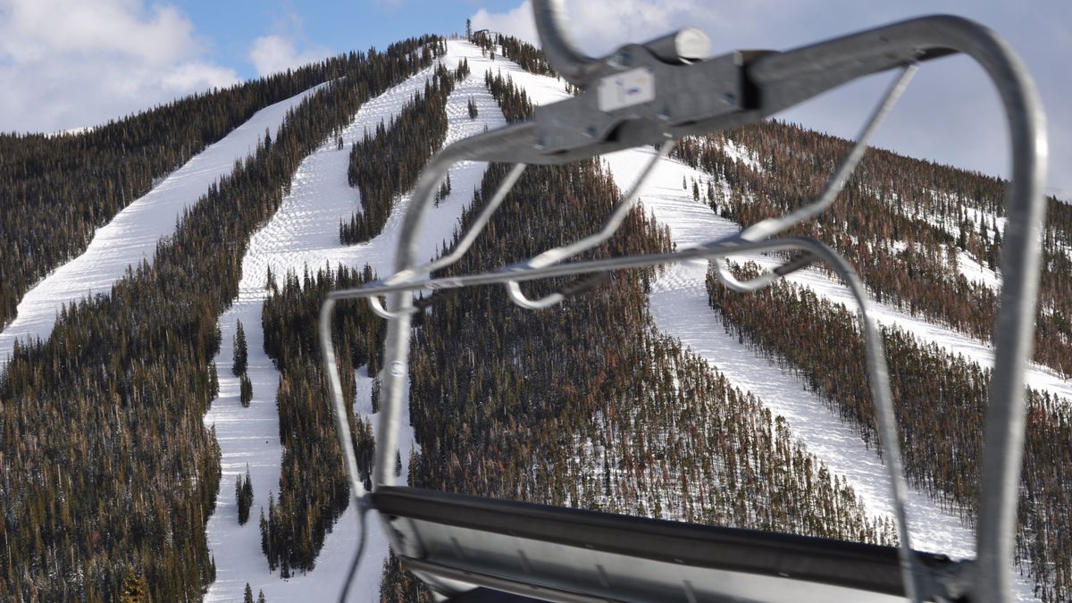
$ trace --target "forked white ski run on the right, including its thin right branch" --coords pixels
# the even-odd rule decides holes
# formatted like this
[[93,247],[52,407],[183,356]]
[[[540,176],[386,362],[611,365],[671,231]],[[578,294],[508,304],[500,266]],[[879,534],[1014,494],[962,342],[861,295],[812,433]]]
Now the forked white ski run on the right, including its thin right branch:
[[[536,104],[567,98],[562,83],[555,78],[534,75],[509,61],[503,62],[505,64],[500,69],[504,74],[509,73]],[[742,161],[750,159],[747,149],[731,146],[728,151],[740,156]],[[634,186],[637,175],[654,152],[649,147],[636,148],[604,156],[604,160],[620,189],[625,191]],[[740,224],[716,216],[706,204],[693,200],[693,180],[699,183],[701,190],[705,189],[708,182],[725,186],[711,175],[693,170],[680,161],[662,159],[640,191],[644,210],[654,215],[658,223],[670,227],[671,239],[679,248],[739,232]],[[683,181],[688,188],[682,186]],[[762,255],[745,258],[760,263],[773,262]],[[717,314],[708,305],[704,284],[706,264],[704,261],[693,261],[669,266],[660,273],[650,296],[656,327],[666,335],[681,339],[726,374],[734,386],[751,392],[772,412],[781,414],[795,438],[833,472],[848,480],[868,513],[892,517],[889,480],[876,451],[868,450],[852,426],[843,424],[821,399],[805,392],[793,376],[773,365],[764,367],[762,363],[765,361],[758,358],[747,345],[739,343],[736,338],[726,336]],[[815,270],[802,270],[792,276],[807,279],[805,284],[818,295],[842,304],[851,304],[847,292]],[[880,321],[906,328],[924,341],[935,341],[983,366],[988,366],[985,364],[987,357],[993,358],[993,351],[987,350],[985,344],[951,329],[905,315],[895,308],[877,306]],[[1058,383],[1059,379],[1055,382],[1056,378],[1051,371],[1042,367],[1032,367],[1028,379],[1036,387],[1072,392],[1068,382]],[[908,504],[913,546],[924,550],[938,550],[952,557],[974,555],[973,533],[961,525],[956,513],[942,510],[937,502],[919,490],[910,491]],[[1021,601],[1036,600],[1031,585],[1018,575],[1016,591]]]

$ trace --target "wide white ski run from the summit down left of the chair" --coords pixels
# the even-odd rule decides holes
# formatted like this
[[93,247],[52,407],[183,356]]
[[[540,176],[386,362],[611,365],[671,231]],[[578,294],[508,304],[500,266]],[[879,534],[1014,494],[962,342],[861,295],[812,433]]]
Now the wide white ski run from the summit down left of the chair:
[[[495,63],[481,57],[475,45],[449,41],[444,57],[446,67],[453,70],[467,58],[471,75],[456,85],[447,102],[448,132],[446,143],[482,132],[506,123],[498,105],[483,86],[485,71]],[[207,533],[209,546],[215,557],[217,580],[210,587],[206,601],[239,601],[245,584],[254,592],[263,589],[268,601],[328,601],[334,600],[342,589],[342,582],[357,544],[358,531],[353,506],[339,518],[325,540],[316,559],[316,568],[308,574],[297,574],[284,580],[279,573],[268,571],[268,561],[260,551],[260,532],[257,525],[259,509],[267,504],[268,491],[279,491],[282,447],[279,441],[279,415],[274,403],[279,372],[264,353],[264,334],[259,328],[260,310],[266,298],[266,276],[271,270],[282,279],[287,270],[298,274],[308,265],[316,270],[325,265],[339,263],[351,267],[370,264],[381,277],[390,273],[398,241],[401,219],[410,204],[410,195],[396,203],[383,232],[369,242],[342,246],[339,244],[339,221],[348,219],[359,207],[359,194],[346,183],[349,163],[349,144],[358,141],[364,131],[372,130],[383,120],[401,111],[414,92],[422,91],[425,80],[432,74],[426,69],[384,94],[364,103],[354,121],[342,133],[343,149],[332,138],[306,158],[294,178],[291,194],[283,200],[276,216],[250,239],[242,260],[242,281],[234,306],[220,317],[223,345],[217,356],[220,372],[220,398],[205,416],[206,425],[214,425],[217,439],[223,454],[223,476],[217,497],[215,513],[209,518]],[[466,102],[477,104],[479,115],[468,117]],[[449,241],[459,225],[462,209],[472,200],[473,189],[479,187],[486,163],[465,162],[450,171],[451,194],[429,212],[421,236],[422,258],[435,256],[440,245]],[[232,344],[236,321],[241,320],[245,329],[249,368],[253,383],[253,401],[250,408],[239,403],[238,379],[230,373]],[[371,415],[370,392],[372,379],[363,368],[357,370],[358,394],[356,411]],[[407,393],[403,394],[408,396]],[[406,399],[406,398],[403,398]],[[403,406],[401,433],[402,458],[413,446],[413,432],[408,425],[408,407]],[[373,422],[376,416],[371,415]],[[238,506],[234,484],[239,474],[250,467],[254,501],[250,521],[238,525]],[[403,464],[404,465],[404,464]],[[403,471],[407,468],[404,467]],[[401,482],[406,480],[405,473]],[[378,602],[379,577],[388,545],[375,515],[369,517],[369,540],[364,557],[353,589],[351,601]]]

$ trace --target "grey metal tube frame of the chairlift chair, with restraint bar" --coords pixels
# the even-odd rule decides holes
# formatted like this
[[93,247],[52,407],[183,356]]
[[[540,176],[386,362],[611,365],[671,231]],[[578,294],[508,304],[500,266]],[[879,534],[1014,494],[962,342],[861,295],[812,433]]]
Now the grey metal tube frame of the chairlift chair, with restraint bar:
[[[983,67],[993,80],[1004,107],[1012,149],[1012,177],[1006,203],[1008,225],[1001,265],[1003,286],[994,329],[995,365],[985,420],[978,558],[958,568],[962,575],[937,575],[913,563],[903,512],[903,477],[892,477],[891,486],[898,506],[897,519],[903,534],[900,559],[905,592],[910,599],[966,595],[971,601],[1010,601],[1010,572],[1013,565],[1025,425],[1024,371],[1030,354],[1037,305],[1040,230],[1045,208],[1042,185],[1047,157],[1042,107],[1030,76],[1012,49],[996,33],[979,24],[959,17],[930,16],[784,53],[735,52],[695,61],[697,57],[686,55],[699,54],[703,40],[695,30],[683,30],[647,44],[629,44],[609,57],[593,59],[577,50],[566,35],[562,0],[534,0],[533,6],[548,62],[568,82],[585,91],[572,99],[538,107],[532,121],[460,141],[433,157],[417,181],[413,201],[405,215],[396,254],[396,273],[382,281],[358,289],[332,292],[322,308],[324,362],[351,491],[360,510],[362,526],[370,502],[357,474],[349,428],[345,423],[347,401],[342,399],[331,343],[330,321],[338,299],[369,298],[377,313],[388,319],[385,353],[387,378],[381,395],[376,461],[372,479],[373,488],[378,490],[394,482],[391,452],[398,447],[400,409],[405,403],[402,392],[408,361],[414,291],[507,283],[515,283],[507,286],[516,288],[516,282],[522,280],[649,266],[694,258],[724,258],[745,251],[803,250],[807,255],[749,283],[735,282],[725,270],[719,270],[727,284],[734,289],[754,290],[814,260],[822,260],[853,291],[860,303],[867,340],[868,370],[881,436],[887,446],[888,464],[891,471],[899,473],[898,440],[896,427],[892,423],[884,357],[874,321],[867,312],[866,292],[862,283],[844,259],[819,241],[798,237],[768,237],[813,217],[833,202],[848,173],[862,156],[874,126],[889,109],[892,100],[899,94],[907,77],[914,71],[914,64],[962,53]],[[430,277],[432,270],[451,264],[464,253],[475,239],[477,231],[487,223],[491,212],[520,175],[523,164],[561,164],[624,148],[646,144],[662,145],[681,136],[756,122],[858,77],[897,68],[904,68],[906,74],[891,88],[887,100],[876,111],[857,147],[846,158],[822,198],[812,206],[779,219],[760,222],[738,235],[675,253],[556,264],[566,259],[569,254],[567,252],[575,252],[575,247],[567,247],[546,252],[541,254],[542,259],[537,256],[489,274],[449,279]],[[657,83],[654,99],[613,111],[600,111],[598,84],[638,69],[646,70]],[[449,167],[464,160],[522,165],[510,173],[474,229],[465,234],[456,250],[438,261],[418,265],[418,240],[434,191]],[[638,181],[636,188],[640,185]],[[628,198],[623,205],[627,203]],[[387,294],[386,309],[375,302],[375,296],[382,294]],[[541,302],[546,304],[536,303],[532,306],[546,307],[559,299],[545,299]],[[401,545],[398,534],[387,520],[385,528],[392,546],[398,548]],[[968,574],[967,578],[965,572]],[[923,585],[922,591],[917,588],[918,584]],[[932,586],[934,584],[942,584],[943,592],[936,592]]]

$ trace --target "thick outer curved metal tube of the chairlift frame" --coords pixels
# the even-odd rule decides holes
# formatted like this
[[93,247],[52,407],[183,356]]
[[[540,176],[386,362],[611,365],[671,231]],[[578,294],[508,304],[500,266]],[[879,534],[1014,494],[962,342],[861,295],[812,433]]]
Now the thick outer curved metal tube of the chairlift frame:
[[[576,50],[562,35],[561,0],[534,0],[536,6],[550,11],[537,17],[539,27],[557,31],[545,38],[549,62],[571,83],[584,82],[593,61]],[[554,10],[559,9],[560,14]],[[538,12],[538,11],[537,11]],[[541,30],[542,33],[542,30]],[[548,41],[551,41],[550,43]],[[563,50],[565,48],[565,50]],[[1025,424],[1025,364],[1029,357],[1039,284],[1040,230],[1045,205],[1042,186],[1047,157],[1044,116],[1034,85],[1026,69],[993,31],[967,19],[948,16],[923,17],[863,33],[822,42],[812,46],[775,53],[751,60],[746,76],[760,92],[760,106],[725,118],[719,117],[688,127],[672,127],[660,132],[674,135],[699,133],[757,121],[817,93],[857,77],[925,60],[964,53],[976,59],[994,82],[1006,109],[1012,146],[1012,173],[1007,197],[1009,219],[1004,233],[1001,270],[1003,288],[998,324],[995,328],[995,368],[991,400],[986,412],[986,447],[983,453],[982,486],[979,518],[979,559],[972,576],[973,601],[1009,601],[1011,568],[1015,538],[1015,514],[1023,459]],[[555,58],[552,59],[551,57]],[[628,126],[628,124],[627,124]],[[594,143],[592,153],[610,150],[614,145],[642,144],[640,136],[649,130],[643,124],[623,127],[619,143]],[[435,156],[418,179],[396,255],[396,270],[402,273],[415,266],[417,238],[435,187],[447,167],[464,159],[494,160],[494,153],[512,157],[520,148],[516,138],[526,139],[534,132],[532,124],[516,126],[509,132],[488,133],[456,143]],[[654,136],[657,132],[651,132]],[[636,141],[636,142],[634,142]],[[646,141],[651,142],[651,141]],[[601,146],[600,146],[601,145]],[[576,160],[580,152],[561,157],[527,153],[544,163]],[[778,246],[757,246],[754,249],[778,249]],[[736,251],[753,249],[738,246]],[[810,249],[815,252],[816,250]],[[818,253],[824,256],[822,253]],[[601,265],[599,262],[586,263]],[[602,264],[610,265],[607,262]],[[571,265],[546,268],[545,275],[568,274]],[[516,276],[511,278],[517,278]],[[460,283],[464,279],[453,279]],[[404,286],[404,283],[399,283]],[[405,367],[410,351],[412,294],[397,290],[388,295],[387,311],[396,314],[387,327],[386,363],[388,378],[384,383],[381,421],[377,432],[377,459],[373,474],[374,487],[393,482],[393,455],[398,445],[400,408],[405,391]],[[322,321],[330,310],[322,312]],[[330,335],[330,333],[329,333]],[[329,349],[326,348],[325,352]],[[884,361],[882,362],[884,364]],[[881,367],[879,367],[881,368]],[[878,377],[883,371],[876,371]],[[348,431],[348,429],[347,429]],[[885,441],[891,440],[883,435]],[[345,448],[344,448],[345,450]],[[355,468],[356,469],[356,468]],[[347,465],[347,471],[351,470]],[[387,530],[392,545],[403,550],[418,546],[400,543],[392,530]],[[416,556],[416,555],[414,555]]]

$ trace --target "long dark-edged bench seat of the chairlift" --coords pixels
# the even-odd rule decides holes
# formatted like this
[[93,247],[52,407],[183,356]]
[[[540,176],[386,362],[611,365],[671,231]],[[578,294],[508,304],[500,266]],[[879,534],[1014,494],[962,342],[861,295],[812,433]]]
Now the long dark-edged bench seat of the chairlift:
[[[372,505],[403,567],[459,603],[905,597],[896,547],[400,486],[381,487]],[[933,570],[953,563],[915,555]]]

